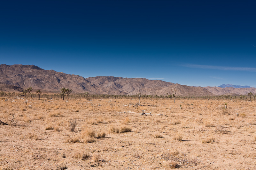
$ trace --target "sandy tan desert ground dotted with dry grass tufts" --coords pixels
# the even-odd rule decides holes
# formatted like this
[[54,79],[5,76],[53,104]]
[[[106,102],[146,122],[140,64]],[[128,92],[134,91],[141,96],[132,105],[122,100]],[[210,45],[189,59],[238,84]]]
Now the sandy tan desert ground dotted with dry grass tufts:
[[[0,120],[13,124],[0,125],[0,170],[256,169],[256,101],[27,100],[0,100]],[[142,110],[153,115],[120,113]],[[131,131],[110,130],[122,127]]]

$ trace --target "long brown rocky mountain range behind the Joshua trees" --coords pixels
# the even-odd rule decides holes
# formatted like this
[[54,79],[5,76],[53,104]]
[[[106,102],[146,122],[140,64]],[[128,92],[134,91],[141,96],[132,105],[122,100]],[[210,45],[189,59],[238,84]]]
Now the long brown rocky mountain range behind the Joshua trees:
[[[214,96],[222,94],[256,93],[256,88],[193,87],[161,80],[97,76],[84,78],[54,70],[44,70],[35,65],[0,65],[0,90],[21,91],[33,87],[43,92],[60,93],[61,88],[73,89],[74,93],[113,95],[166,95],[176,89],[177,96]],[[236,89],[236,90],[234,90]],[[241,90],[243,89],[243,90]]]

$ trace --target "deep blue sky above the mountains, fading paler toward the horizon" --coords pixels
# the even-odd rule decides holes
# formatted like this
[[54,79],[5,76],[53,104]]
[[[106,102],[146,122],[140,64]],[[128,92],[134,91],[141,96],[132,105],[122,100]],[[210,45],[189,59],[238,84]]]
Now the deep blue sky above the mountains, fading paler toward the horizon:
[[0,64],[256,87],[256,1],[0,1]]

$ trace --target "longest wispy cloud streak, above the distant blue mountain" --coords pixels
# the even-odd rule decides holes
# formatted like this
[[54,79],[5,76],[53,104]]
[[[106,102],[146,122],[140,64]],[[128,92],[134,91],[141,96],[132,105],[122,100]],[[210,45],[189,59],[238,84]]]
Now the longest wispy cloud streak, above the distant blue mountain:
[[256,72],[256,68],[253,67],[226,67],[226,66],[208,66],[208,65],[196,65],[196,64],[183,64],[183,67],[190,68],[203,68],[203,69],[214,69],[214,70],[232,70],[232,71],[250,71]]

